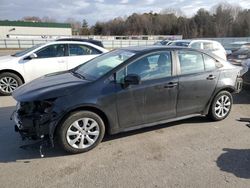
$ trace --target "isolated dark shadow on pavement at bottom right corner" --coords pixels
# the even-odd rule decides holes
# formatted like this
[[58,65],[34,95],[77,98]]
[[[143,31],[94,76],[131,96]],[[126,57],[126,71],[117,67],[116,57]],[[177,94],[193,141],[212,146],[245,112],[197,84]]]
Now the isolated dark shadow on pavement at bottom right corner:
[[250,179],[250,149],[228,149],[217,159],[220,170],[232,173],[236,177]]

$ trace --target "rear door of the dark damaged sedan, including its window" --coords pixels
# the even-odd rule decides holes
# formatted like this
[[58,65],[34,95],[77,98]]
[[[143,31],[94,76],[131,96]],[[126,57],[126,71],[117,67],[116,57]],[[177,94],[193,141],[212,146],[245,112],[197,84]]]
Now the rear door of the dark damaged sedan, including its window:
[[218,81],[213,58],[197,51],[177,51],[179,94],[177,116],[200,113],[208,104]]

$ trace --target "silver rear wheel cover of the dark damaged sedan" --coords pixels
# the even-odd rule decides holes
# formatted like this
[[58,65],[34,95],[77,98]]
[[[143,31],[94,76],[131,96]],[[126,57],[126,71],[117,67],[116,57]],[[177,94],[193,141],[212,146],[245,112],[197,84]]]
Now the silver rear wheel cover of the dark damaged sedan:
[[215,114],[216,116],[223,118],[225,117],[231,108],[231,100],[227,95],[222,95],[215,103]]

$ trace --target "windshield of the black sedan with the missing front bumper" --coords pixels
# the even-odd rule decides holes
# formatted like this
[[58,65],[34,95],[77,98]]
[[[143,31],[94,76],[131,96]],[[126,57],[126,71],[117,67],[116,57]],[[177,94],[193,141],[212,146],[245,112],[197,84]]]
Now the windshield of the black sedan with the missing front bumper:
[[135,55],[135,53],[128,50],[114,50],[77,67],[74,72],[82,75],[86,79],[96,80],[133,55]]

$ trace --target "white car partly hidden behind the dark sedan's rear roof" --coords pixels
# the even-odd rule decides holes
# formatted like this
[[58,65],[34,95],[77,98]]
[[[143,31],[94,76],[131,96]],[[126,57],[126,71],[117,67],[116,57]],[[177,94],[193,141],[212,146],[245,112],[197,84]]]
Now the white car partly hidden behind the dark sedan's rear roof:
[[218,57],[227,60],[226,50],[217,41],[213,40],[176,40],[173,41],[170,46],[184,46],[188,48],[201,49],[211,52]]

